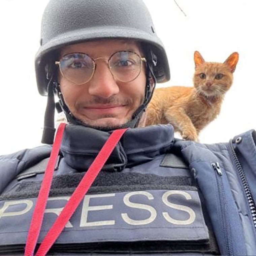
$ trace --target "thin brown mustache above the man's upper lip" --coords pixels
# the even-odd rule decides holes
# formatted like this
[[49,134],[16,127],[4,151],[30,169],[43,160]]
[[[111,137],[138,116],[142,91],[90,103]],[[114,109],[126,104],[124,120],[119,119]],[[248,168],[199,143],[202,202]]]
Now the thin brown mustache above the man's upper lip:
[[82,108],[85,106],[95,105],[95,104],[108,104],[108,105],[132,105],[131,99],[119,99],[115,95],[110,96],[109,98],[102,98],[100,96],[93,96],[92,99],[88,101],[78,102],[77,107]]

